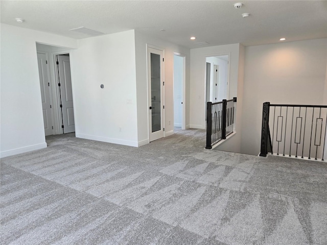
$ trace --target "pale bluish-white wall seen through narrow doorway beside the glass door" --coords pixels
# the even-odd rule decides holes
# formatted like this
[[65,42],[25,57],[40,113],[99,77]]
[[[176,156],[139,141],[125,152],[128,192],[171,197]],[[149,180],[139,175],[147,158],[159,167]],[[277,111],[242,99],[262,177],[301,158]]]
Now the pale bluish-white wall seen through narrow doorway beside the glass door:
[[184,57],[174,55],[174,127],[182,127]]

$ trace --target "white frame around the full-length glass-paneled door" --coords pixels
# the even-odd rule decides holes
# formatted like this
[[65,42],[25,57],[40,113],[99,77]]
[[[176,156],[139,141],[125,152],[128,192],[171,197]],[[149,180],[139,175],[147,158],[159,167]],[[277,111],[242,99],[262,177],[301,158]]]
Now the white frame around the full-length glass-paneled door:
[[[153,48],[154,50],[158,50],[158,51],[161,51],[162,52],[162,58],[165,60],[165,48],[162,48],[162,47],[159,47],[159,46],[155,46],[155,45],[152,45],[152,44],[149,44],[147,43],[146,44],[146,60],[147,60],[147,111],[148,111],[148,139],[149,139],[149,142],[150,141],[150,112],[149,112],[149,107],[150,107],[150,104],[149,104],[149,94],[150,94],[150,91],[149,91],[149,86],[150,86],[150,83],[151,81],[149,81],[149,62],[150,60],[148,59],[148,50],[149,48]],[[165,61],[161,63],[162,66],[160,67],[160,72],[161,72],[161,81],[162,82],[165,82]],[[162,85],[161,86],[162,88],[162,91],[161,91],[161,95],[162,95],[162,98],[161,98],[161,106],[165,106],[165,102],[166,102],[166,92],[165,92],[165,86]],[[166,110],[161,108],[162,110],[162,118],[161,118],[161,121],[162,121],[162,126],[161,128],[164,130],[164,135],[163,137],[166,137],[166,131],[165,131],[165,128],[166,128]]]

